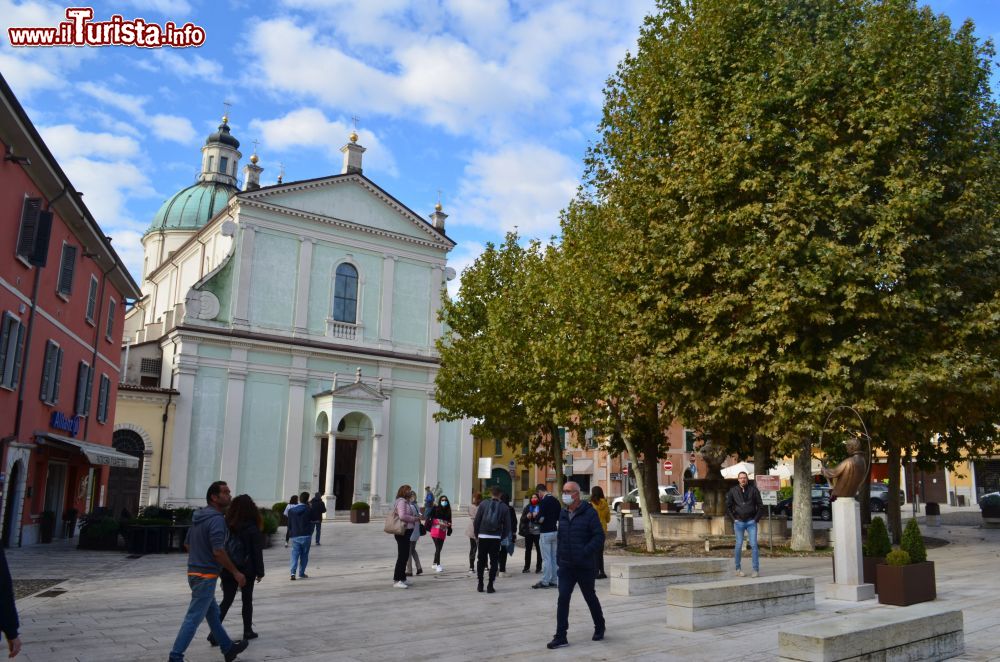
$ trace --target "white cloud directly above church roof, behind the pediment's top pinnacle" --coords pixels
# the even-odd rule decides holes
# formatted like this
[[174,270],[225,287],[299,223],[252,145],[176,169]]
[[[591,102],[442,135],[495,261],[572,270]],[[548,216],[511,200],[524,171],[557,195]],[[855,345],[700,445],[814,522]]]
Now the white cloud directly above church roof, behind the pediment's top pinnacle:
[[[279,154],[291,150],[319,151],[338,165],[336,172],[340,172],[339,164],[343,159],[340,148],[351,133],[347,122],[330,120],[316,108],[299,108],[271,120],[254,119],[250,121],[250,129],[260,136],[262,159],[267,159],[270,150]],[[363,160],[366,171],[398,176],[392,153],[374,133],[359,129],[358,143],[367,150]]]

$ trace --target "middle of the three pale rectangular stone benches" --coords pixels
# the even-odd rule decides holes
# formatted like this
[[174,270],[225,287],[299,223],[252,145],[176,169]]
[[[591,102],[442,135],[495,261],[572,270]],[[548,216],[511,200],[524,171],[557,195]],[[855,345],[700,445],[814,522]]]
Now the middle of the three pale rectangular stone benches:
[[816,608],[812,577],[735,578],[667,589],[667,627],[704,630]]

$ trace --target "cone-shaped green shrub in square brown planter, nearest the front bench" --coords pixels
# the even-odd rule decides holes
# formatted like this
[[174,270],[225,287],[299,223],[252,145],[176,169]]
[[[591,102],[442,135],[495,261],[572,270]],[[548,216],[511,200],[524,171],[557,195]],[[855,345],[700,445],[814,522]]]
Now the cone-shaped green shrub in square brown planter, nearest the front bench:
[[927,560],[927,549],[915,519],[906,523],[899,549],[889,552],[885,560],[876,570],[880,603],[906,607],[937,597],[934,563]]

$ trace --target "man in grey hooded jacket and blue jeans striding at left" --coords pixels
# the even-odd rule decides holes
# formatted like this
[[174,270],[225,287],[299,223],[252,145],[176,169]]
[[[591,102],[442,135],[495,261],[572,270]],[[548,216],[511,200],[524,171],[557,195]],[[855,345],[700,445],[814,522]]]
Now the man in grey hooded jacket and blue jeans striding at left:
[[226,520],[222,513],[232,495],[229,486],[219,480],[212,483],[206,495],[208,507],[195,512],[191,519],[184,546],[188,550],[188,585],[191,587],[191,604],[188,605],[180,632],[170,650],[171,662],[183,662],[184,651],[191,644],[198,626],[202,620],[208,621],[208,627],[225,655],[226,662],[232,662],[236,656],[246,650],[248,641],[233,641],[226,634],[219,619],[219,603],[215,601],[215,585],[219,580],[219,572],[225,568],[236,579],[237,585],[243,588],[247,578],[239,571],[226,554]]

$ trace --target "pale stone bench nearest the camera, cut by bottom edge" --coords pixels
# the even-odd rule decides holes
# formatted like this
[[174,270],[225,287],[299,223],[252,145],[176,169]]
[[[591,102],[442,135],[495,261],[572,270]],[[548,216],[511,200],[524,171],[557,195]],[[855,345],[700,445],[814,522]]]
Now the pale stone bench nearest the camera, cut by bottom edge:
[[964,651],[962,612],[932,603],[830,615],[778,632],[785,662],[946,660]]

